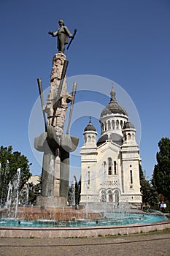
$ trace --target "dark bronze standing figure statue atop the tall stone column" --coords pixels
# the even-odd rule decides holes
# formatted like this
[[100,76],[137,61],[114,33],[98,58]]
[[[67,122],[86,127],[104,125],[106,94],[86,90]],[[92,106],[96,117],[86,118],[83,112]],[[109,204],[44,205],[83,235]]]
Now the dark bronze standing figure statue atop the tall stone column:
[[59,20],[58,24],[60,28],[58,31],[49,31],[48,34],[52,35],[52,37],[58,37],[58,43],[57,43],[57,48],[59,53],[64,53],[65,46],[68,44],[68,38],[67,37],[72,37],[72,33],[69,31],[69,29],[64,26],[63,20]]

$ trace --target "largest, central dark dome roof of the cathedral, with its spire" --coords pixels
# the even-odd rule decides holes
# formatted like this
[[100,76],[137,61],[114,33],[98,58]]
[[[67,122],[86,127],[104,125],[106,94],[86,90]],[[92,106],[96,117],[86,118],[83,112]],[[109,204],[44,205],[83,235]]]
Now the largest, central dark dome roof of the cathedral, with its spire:
[[112,88],[111,92],[110,92],[110,95],[111,95],[111,99],[110,99],[110,102],[109,102],[109,105],[107,105],[106,108],[104,108],[102,111],[101,111],[101,118],[103,116],[107,116],[107,115],[110,115],[110,114],[123,114],[125,116],[128,116],[128,113],[125,111],[125,109],[123,107],[121,107],[117,101],[116,101],[116,97],[115,97],[115,90]]

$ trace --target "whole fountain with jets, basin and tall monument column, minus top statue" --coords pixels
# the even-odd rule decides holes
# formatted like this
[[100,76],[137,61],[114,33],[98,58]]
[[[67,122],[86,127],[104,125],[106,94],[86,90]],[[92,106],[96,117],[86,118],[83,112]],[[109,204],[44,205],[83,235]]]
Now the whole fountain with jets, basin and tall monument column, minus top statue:
[[[53,32],[50,32],[50,34]],[[0,211],[0,237],[88,237],[114,236],[117,234],[140,233],[163,230],[170,227],[165,215],[132,213],[128,203],[115,206],[113,203],[90,205],[88,203],[88,172],[86,173],[86,203],[78,209],[67,206],[69,188],[69,153],[77,148],[79,139],[69,135],[70,119],[77,83],[74,82],[72,95],[66,89],[66,69],[69,61],[61,53],[53,57],[50,78],[50,93],[44,105],[42,83],[38,78],[45,132],[35,138],[34,148],[44,154],[42,163],[42,195],[37,197],[36,206],[19,207],[18,195],[20,169],[15,181],[15,210],[11,209],[12,184],[9,184],[6,208]],[[66,134],[63,126],[67,104],[71,111]],[[47,120],[46,120],[47,114]],[[26,203],[28,203],[26,189]],[[103,195],[105,196],[105,195]],[[6,198],[5,198],[6,200]],[[75,198],[73,198],[75,205]],[[14,218],[9,218],[12,211]]]

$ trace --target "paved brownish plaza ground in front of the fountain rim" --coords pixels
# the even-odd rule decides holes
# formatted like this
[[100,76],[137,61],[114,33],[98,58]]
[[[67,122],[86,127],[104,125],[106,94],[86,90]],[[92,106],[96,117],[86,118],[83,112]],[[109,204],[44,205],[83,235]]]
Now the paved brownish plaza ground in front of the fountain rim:
[[98,238],[0,238],[1,256],[170,256],[170,230]]

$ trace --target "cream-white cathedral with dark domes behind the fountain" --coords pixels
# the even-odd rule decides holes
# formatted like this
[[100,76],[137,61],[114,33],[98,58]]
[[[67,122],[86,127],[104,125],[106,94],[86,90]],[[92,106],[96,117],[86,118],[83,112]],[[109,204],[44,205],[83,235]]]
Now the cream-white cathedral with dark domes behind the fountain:
[[97,140],[98,133],[91,118],[83,132],[80,204],[88,203],[93,207],[105,203],[119,208],[128,203],[133,208],[140,208],[141,159],[136,129],[128,119],[128,113],[117,103],[113,88],[110,95],[110,102],[99,118],[100,138]]

